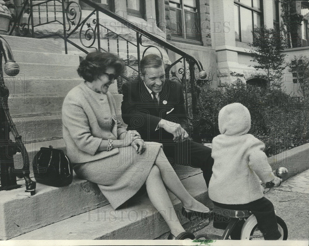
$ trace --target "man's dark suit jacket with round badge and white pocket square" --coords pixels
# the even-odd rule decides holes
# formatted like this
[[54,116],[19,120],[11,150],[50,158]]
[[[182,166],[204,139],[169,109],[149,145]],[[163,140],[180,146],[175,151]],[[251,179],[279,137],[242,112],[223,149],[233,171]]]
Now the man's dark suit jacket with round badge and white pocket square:
[[156,142],[173,139],[173,135],[163,128],[155,130],[161,119],[179,123],[188,129],[184,94],[179,82],[165,80],[159,93],[159,105],[152,100],[141,79],[124,83],[122,93],[122,119],[128,124],[127,129],[137,130],[142,139]]

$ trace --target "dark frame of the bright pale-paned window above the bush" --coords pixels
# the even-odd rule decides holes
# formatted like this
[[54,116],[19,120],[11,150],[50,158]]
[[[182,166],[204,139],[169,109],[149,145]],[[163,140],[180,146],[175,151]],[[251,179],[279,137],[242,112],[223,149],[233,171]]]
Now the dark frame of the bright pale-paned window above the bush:
[[[264,11],[263,11],[263,1],[260,1],[260,9],[257,9],[256,7],[252,7],[253,6],[253,0],[251,0],[251,6],[248,6],[242,2],[240,2],[240,0],[234,0],[234,5],[236,5],[238,7],[238,35],[239,35],[239,39],[236,39],[235,37],[235,41],[241,42],[241,43],[245,43],[245,44],[249,44],[247,42],[243,42],[241,40],[241,17],[240,17],[240,7],[243,7],[245,9],[248,9],[251,11],[251,23],[252,23],[252,39],[254,37],[254,12],[257,13],[258,15],[260,15],[260,26],[264,25]],[[233,10],[234,11],[234,10]]]

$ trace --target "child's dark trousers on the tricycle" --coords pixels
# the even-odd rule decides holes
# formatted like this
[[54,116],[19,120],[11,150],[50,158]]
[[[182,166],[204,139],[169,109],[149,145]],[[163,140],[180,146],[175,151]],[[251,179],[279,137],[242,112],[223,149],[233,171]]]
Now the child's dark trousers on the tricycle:
[[[215,201],[213,203],[216,206],[231,210],[249,210],[255,215],[258,227],[265,240],[277,240],[281,237],[273,204],[267,198],[262,197],[247,204],[222,204]],[[216,228],[225,229],[228,223],[228,218],[214,217],[214,227]],[[232,239],[240,239],[242,226],[243,224],[237,223],[231,235]]]

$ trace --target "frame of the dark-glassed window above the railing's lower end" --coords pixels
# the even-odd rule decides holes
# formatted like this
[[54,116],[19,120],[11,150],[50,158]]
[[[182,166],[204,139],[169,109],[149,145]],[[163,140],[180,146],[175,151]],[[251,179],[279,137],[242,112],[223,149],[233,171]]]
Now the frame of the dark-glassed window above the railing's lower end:
[[[173,2],[173,3],[177,3],[176,2],[177,0],[169,0],[168,1],[168,4],[170,4],[170,2]],[[172,41],[180,41],[180,42],[185,42],[185,43],[191,43],[191,44],[197,44],[197,45],[203,45],[202,43],[202,38],[201,38],[201,15],[200,15],[200,1],[199,0],[194,0],[195,3],[196,3],[196,6],[191,6],[191,5],[187,5],[187,4],[184,4],[184,0],[179,0],[180,1],[180,5],[181,5],[181,8],[175,8],[175,7],[171,7],[169,5],[169,8],[171,9],[175,9],[175,10],[180,10],[181,11],[181,19],[182,19],[182,37],[180,36],[174,36],[172,33],[171,33],[171,40]],[[179,4],[179,3],[178,3]],[[195,8],[196,9],[196,12],[193,12],[193,11],[190,11],[188,9],[185,9],[184,7],[187,6],[189,8]],[[198,23],[198,29],[199,29],[199,32],[198,32],[198,39],[192,39],[192,38],[188,38],[187,35],[186,35],[186,21],[185,21],[185,11],[189,11],[191,13],[195,13],[197,14],[197,23]]]

